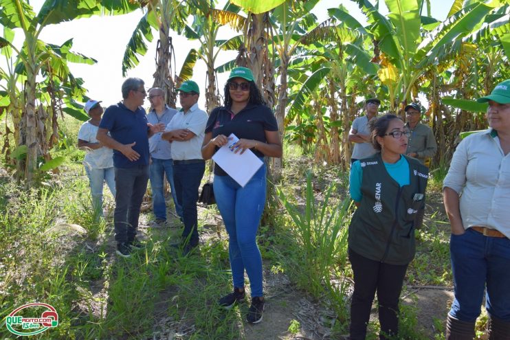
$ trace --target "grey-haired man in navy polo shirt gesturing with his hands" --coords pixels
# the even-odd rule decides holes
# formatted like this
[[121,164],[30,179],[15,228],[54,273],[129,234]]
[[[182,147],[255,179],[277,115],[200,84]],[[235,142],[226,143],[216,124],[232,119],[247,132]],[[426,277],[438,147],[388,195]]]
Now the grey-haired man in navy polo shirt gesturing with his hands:
[[141,247],[136,229],[149,177],[148,138],[164,129],[164,124],[148,124],[142,108],[145,97],[143,80],[126,79],[122,84],[124,99],[104,111],[96,137],[113,149],[117,188],[113,222],[117,253],[124,258],[130,256],[131,248]]

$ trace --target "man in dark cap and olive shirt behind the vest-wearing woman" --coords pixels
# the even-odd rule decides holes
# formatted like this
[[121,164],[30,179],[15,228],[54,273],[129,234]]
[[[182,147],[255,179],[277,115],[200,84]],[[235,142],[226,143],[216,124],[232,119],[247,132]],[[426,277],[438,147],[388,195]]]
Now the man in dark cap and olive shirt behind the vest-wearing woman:
[[409,157],[418,159],[420,163],[428,165],[430,159],[434,157],[437,151],[436,139],[434,138],[432,128],[421,124],[421,106],[419,104],[411,103],[406,106],[404,111],[406,111],[406,126],[411,131],[406,154]]

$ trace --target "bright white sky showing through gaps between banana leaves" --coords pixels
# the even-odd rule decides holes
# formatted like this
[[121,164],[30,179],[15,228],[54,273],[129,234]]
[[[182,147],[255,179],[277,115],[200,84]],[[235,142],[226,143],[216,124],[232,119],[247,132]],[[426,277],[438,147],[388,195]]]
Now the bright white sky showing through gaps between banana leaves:
[[[220,0],[221,1],[221,0]],[[442,21],[446,18],[447,12],[450,10],[454,0],[430,0],[432,7],[432,16]],[[374,3],[374,1],[372,1]],[[384,1],[381,1],[383,3]],[[34,0],[30,4],[35,12],[43,5],[44,1]],[[343,3],[348,12],[355,18],[365,23],[364,15],[361,13],[357,5],[348,0],[322,0],[314,9],[314,14],[318,16],[320,21],[326,19],[327,9],[335,8],[339,3]],[[384,12],[386,9],[381,9]],[[387,12],[387,10],[386,10]],[[87,19],[78,19],[58,25],[48,25],[41,32],[41,40],[45,43],[61,45],[65,41],[73,38],[73,47],[71,51],[84,54],[98,60],[95,65],[80,65],[69,63],[71,73],[77,78],[85,80],[85,88],[88,90],[87,95],[94,100],[101,100],[103,106],[115,104],[122,99],[120,91],[122,82],[122,58],[126,44],[133,34],[138,21],[142,18],[141,10],[125,14],[122,16],[93,16]],[[228,28],[221,28],[219,38],[230,38],[234,34]],[[153,73],[155,71],[155,49],[157,44],[157,32],[153,30],[155,38],[148,43],[148,52],[145,56],[139,57],[140,64],[128,71],[128,77],[137,77],[144,80],[146,89],[153,84]],[[171,34],[175,49],[175,60],[177,65],[177,73],[191,48],[199,47],[198,41],[188,41],[184,36],[177,33]],[[21,32],[16,31],[14,44],[20,47],[22,44]],[[223,52],[219,55],[216,66],[232,60],[236,56],[236,52]],[[0,65],[5,65],[5,61],[1,60]],[[218,75],[218,83],[220,89],[228,78],[228,73],[220,73]],[[205,91],[206,87],[206,65],[198,60],[194,68],[192,80],[195,80],[201,90]],[[146,99],[144,106],[150,104]],[[204,108],[205,98],[201,95],[199,98],[199,106]]]

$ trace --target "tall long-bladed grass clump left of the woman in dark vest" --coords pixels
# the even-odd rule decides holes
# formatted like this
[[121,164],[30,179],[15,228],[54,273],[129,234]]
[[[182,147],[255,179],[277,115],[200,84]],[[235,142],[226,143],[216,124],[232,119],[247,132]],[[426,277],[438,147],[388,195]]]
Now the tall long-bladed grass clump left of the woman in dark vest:
[[346,291],[344,267],[347,258],[347,225],[350,199],[331,203],[335,184],[326,190],[324,201],[316,203],[307,173],[307,191],[304,209],[290,203],[278,189],[278,197],[293,224],[289,240],[295,241],[294,253],[282,261],[292,261],[293,277],[300,288],[315,297],[328,298],[341,321],[346,320]]

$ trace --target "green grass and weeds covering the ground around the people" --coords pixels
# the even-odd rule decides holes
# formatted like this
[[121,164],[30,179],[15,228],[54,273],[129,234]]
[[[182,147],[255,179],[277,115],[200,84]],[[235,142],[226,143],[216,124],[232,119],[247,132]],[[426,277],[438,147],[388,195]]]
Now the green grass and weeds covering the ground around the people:
[[[243,339],[248,299],[229,311],[217,307],[217,299],[231,290],[223,225],[221,238],[212,236],[196,255],[183,257],[170,247],[180,233],[172,227],[146,229],[144,250],[129,259],[115,256],[111,219],[98,218],[91,209],[83,152],[76,148],[79,125],[63,125],[65,141],[52,155],[63,155],[67,161],[59,174],[48,174],[44,185],[26,191],[10,179],[0,179],[4,245],[0,247],[0,319],[16,306],[39,301],[56,307],[60,324],[37,339],[153,335],[159,339],[170,332],[182,335],[180,339]],[[346,230],[353,213],[348,174],[312,165],[296,146],[286,146],[285,152],[286,166],[276,185],[279,199],[271,201],[258,233],[264,264],[272,273],[287,275],[293,293],[334,310],[336,319],[324,317],[322,326],[331,330],[332,337],[344,335],[352,277],[346,256]],[[437,181],[430,190],[441,190]],[[106,196],[105,205],[111,205],[113,199]],[[203,212],[201,233],[215,234],[214,223],[203,221],[215,220],[212,216],[217,214],[215,206]],[[447,225],[437,212],[427,217],[417,232],[417,257],[406,284],[450,286]],[[145,218],[153,217],[149,212]],[[278,303],[291,304],[286,299]],[[416,314],[413,306],[401,308],[406,339],[425,339],[417,329]],[[297,335],[304,323],[293,318],[288,332]],[[436,339],[442,337],[443,319],[437,316]],[[368,339],[375,339],[378,328],[377,322],[370,324]],[[8,337],[1,326],[0,338]]]

